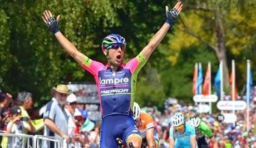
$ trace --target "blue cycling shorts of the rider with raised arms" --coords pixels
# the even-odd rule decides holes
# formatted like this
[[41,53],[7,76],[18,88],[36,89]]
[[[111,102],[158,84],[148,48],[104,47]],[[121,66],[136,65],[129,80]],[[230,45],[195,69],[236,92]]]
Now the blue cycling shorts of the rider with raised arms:
[[126,145],[127,137],[131,134],[140,135],[135,126],[134,119],[126,115],[106,116],[102,120],[100,147],[117,147],[116,139],[120,138]]

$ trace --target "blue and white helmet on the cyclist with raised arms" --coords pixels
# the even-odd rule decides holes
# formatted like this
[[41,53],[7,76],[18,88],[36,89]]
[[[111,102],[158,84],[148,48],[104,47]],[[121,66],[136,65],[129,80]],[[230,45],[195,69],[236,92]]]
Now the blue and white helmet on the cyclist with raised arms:
[[108,50],[108,47],[111,45],[122,45],[126,47],[125,38],[119,34],[110,34],[109,36],[106,36],[101,44],[102,51]]

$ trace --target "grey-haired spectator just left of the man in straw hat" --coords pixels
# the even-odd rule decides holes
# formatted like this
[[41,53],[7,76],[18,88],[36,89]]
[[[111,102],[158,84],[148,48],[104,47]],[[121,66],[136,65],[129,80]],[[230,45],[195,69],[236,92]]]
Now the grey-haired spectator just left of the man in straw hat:
[[[33,105],[32,93],[26,91],[19,92],[17,100],[19,108],[21,108],[21,116],[31,118],[28,115],[27,110],[31,109]],[[32,120],[32,124],[35,127],[36,131],[42,130],[45,126],[45,124],[43,123],[43,119]]]

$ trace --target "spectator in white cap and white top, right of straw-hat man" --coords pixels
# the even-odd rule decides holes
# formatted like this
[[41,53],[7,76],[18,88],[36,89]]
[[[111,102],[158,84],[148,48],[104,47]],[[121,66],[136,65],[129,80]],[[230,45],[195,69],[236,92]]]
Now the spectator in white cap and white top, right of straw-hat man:
[[65,105],[65,111],[67,112],[68,116],[68,136],[72,137],[73,132],[75,131],[76,125],[74,121],[74,112],[77,105],[77,98],[76,95],[71,93],[67,96],[67,104]]

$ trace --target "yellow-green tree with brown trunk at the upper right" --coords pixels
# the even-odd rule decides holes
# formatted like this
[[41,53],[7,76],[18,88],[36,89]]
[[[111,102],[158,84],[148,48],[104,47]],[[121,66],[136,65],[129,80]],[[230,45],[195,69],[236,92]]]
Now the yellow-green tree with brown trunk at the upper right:
[[[229,87],[230,55],[240,55],[256,29],[255,1],[188,1],[171,45],[177,49],[205,44],[223,61],[224,85]],[[186,33],[186,34],[184,34]],[[187,36],[189,34],[190,36]],[[179,50],[178,50],[179,52]],[[178,57],[177,53],[174,57]]]

